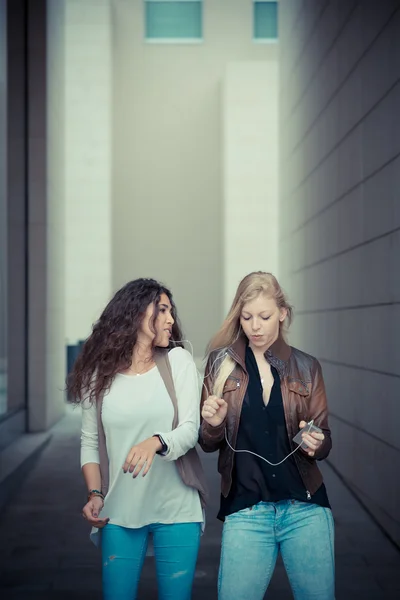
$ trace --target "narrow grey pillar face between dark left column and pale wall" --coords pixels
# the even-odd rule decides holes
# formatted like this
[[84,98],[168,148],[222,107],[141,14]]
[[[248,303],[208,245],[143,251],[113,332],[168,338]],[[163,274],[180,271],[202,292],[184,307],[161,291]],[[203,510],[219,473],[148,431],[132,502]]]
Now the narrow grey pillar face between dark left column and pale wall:
[[65,9],[47,2],[47,423],[64,412],[65,380]]

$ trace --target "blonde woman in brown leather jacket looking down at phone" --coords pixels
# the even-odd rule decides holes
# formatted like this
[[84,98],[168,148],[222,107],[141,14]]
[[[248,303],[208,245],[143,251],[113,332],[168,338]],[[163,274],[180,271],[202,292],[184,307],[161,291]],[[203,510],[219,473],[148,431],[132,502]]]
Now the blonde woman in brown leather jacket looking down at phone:
[[279,551],[296,600],[335,597],[334,525],[317,466],[332,446],[325,386],[319,362],[285,341],[291,319],[276,278],[250,273],[209,344],[200,444],[219,451],[220,600],[262,600]]

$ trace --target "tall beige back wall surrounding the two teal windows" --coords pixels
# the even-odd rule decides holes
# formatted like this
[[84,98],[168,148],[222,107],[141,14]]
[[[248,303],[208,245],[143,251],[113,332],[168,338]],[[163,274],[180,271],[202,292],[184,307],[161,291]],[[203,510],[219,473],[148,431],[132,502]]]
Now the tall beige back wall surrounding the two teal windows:
[[252,2],[204,2],[204,42],[144,41],[143,2],[113,0],[113,286],[172,288],[201,355],[223,316],[222,88],[227,65],[268,60]]

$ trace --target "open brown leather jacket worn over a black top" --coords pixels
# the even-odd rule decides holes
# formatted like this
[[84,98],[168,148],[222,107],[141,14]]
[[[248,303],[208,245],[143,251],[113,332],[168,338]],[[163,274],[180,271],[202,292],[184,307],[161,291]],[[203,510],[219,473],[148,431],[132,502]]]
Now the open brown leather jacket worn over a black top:
[[[225,440],[225,427],[229,443],[235,448],[242,404],[249,380],[245,365],[246,340],[243,337],[239,338],[227,349],[227,352],[236,362],[233,372],[225,382],[222,394],[228,403],[227,417],[217,427],[212,427],[202,419],[199,437],[200,446],[205,452],[219,450],[218,471],[222,477],[221,491],[225,497],[229,494],[232,485],[234,460],[234,452]],[[218,352],[212,352],[206,366],[201,406],[212,394],[217,370],[215,366],[217,355]],[[316,358],[289,346],[282,337],[267,350],[265,358],[277,369],[280,376],[286,428],[291,449],[297,448],[292,439],[299,431],[299,423],[302,420],[308,422],[314,419],[315,425],[320,427],[325,434],[325,439],[313,458],[310,458],[302,449],[293,455],[308,496],[313,495],[322,484],[322,475],[316,461],[326,458],[332,447],[321,365]],[[211,368],[212,371],[210,371]]]

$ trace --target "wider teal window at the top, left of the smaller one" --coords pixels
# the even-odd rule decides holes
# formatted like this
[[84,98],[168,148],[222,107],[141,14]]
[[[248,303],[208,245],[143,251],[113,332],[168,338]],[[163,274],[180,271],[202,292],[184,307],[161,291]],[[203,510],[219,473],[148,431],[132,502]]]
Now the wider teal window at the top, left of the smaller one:
[[160,42],[201,40],[202,5],[199,0],[145,0],[146,39]]

